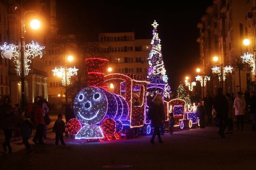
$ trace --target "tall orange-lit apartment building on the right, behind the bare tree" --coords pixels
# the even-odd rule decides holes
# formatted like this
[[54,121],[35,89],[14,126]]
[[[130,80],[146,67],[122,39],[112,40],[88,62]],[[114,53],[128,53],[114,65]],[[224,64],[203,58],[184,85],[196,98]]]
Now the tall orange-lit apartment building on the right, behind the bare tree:
[[[204,91],[217,94],[217,88],[221,86],[217,74],[212,73],[213,66],[233,67],[232,73],[227,73],[223,82],[224,93],[245,92],[250,88],[254,79],[250,71],[235,69],[234,56],[242,56],[247,52],[242,42],[247,32],[245,19],[248,0],[214,0],[213,4],[206,9],[206,14],[201,17],[197,24],[200,44],[201,67],[204,75],[211,76]],[[218,62],[213,61],[213,56],[218,56]],[[240,75],[240,76],[239,76]],[[240,77],[240,78],[239,78]]]

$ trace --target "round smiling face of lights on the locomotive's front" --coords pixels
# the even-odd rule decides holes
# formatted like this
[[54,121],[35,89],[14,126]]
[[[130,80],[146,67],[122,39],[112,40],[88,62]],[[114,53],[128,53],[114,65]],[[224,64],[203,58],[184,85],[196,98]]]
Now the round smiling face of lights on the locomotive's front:
[[100,88],[84,88],[75,97],[75,115],[83,124],[98,124],[105,117],[107,110],[108,101],[105,93]]

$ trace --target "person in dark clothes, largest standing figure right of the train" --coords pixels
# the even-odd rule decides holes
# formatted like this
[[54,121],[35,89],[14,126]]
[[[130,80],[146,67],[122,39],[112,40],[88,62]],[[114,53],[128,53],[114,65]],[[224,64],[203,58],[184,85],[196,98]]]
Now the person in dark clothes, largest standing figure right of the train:
[[218,88],[218,94],[213,100],[213,108],[216,111],[216,116],[218,118],[219,131],[218,134],[221,138],[225,138],[224,131],[227,127],[228,120],[228,101],[223,95],[223,88]]

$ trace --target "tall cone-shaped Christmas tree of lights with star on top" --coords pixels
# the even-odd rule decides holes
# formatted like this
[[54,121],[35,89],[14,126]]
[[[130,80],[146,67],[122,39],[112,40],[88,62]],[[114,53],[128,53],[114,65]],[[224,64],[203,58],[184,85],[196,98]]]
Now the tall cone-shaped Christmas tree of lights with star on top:
[[166,75],[166,70],[163,63],[163,55],[161,51],[160,38],[158,37],[157,24],[156,20],[151,24],[153,29],[153,39],[151,40],[152,49],[148,57],[148,79],[152,84],[164,85],[164,97],[169,98],[169,93],[171,88],[168,85],[168,77]]

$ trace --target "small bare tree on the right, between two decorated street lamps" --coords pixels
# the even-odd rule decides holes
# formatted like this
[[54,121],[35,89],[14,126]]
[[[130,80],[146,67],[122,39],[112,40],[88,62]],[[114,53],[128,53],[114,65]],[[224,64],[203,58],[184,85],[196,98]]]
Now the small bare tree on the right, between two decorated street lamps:
[[245,62],[243,62],[242,58],[239,55],[232,55],[232,67],[238,71],[239,74],[239,90],[241,91],[241,71],[250,71],[251,67]]

